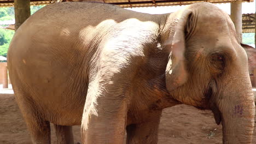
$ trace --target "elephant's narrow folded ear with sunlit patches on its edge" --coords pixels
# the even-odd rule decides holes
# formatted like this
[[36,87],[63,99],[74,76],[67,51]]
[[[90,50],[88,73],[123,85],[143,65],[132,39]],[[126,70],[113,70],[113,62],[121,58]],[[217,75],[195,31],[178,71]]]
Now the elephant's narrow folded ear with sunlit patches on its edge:
[[[185,9],[180,11],[175,20],[174,34],[169,35],[167,48],[171,49],[168,63],[165,70],[166,88],[173,91],[182,86],[188,80],[188,72],[185,63],[185,37],[189,33],[190,22],[193,12]],[[169,44],[168,44],[169,43]]]

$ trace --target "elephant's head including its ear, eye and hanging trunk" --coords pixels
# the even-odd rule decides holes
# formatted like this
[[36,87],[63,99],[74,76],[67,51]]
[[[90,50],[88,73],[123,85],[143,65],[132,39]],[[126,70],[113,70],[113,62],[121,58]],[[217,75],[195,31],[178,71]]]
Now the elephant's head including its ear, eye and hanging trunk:
[[171,14],[166,87],[184,104],[210,109],[223,143],[251,143],[254,98],[247,55],[228,14],[198,3]]

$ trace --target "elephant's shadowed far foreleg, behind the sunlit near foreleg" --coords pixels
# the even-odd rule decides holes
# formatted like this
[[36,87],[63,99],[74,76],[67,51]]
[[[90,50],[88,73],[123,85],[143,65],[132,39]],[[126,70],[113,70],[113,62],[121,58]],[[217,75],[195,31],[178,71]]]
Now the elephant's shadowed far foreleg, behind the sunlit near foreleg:
[[150,113],[147,122],[131,124],[126,127],[126,144],[158,143],[158,127],[162,111]]

